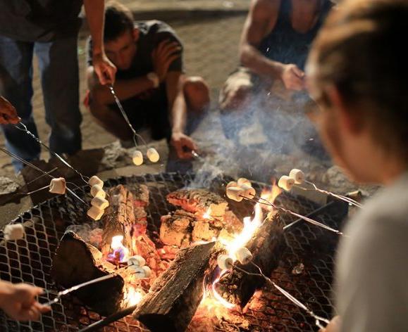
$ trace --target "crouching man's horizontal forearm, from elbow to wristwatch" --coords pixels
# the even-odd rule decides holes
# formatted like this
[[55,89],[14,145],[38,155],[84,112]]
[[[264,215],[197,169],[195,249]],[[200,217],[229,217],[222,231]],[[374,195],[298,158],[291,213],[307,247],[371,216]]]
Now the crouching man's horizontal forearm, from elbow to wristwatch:
[[[113,85],[116,96],[120,100],[125,100],[142,94],[144,91],[153,89],[153,82],[145,76],[133,79],[117,79]],[[108,105],[114,102],[111,91],[108,87],[101,84],[95,84],[91,89],[92,98],[96,98],[101,105]]]

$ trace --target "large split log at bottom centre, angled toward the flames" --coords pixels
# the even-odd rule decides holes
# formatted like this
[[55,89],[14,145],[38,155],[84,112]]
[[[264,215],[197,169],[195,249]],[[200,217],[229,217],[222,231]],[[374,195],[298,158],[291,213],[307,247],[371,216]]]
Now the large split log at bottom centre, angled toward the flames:
[[139,303],[133,316],[151,331],[185,331],[202,300],[203,281],[216,266],[215,242],[180,250]]

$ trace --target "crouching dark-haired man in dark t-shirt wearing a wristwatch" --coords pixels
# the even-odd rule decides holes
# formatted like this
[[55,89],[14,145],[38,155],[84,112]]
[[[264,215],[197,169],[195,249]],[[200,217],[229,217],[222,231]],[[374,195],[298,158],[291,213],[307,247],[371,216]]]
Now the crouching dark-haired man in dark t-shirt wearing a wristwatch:
[[[149,129],[152,139],[171,141],[178,158],[191,158],[197,149],[188,136],[191,120],[209,104],[209,89],[201,77],[185,77],[182,45],[175,32],[159,21],[134,23],[120,4],[106,6],[106,55],[118,68],[114,89],[136,131]],[[89,41],[89,52],[92,51]],[[95,120],[122,141],[132,132],[114,103],[111,92],[87,69],[87,104]]]

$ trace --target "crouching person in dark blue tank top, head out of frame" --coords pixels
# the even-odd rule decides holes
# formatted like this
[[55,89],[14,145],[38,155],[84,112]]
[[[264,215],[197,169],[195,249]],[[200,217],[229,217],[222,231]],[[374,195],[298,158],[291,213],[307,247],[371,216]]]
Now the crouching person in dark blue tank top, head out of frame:
[[[221,114],[228,119],[233,111],[246,113],[259,94],[289,101],[304,91],[309,48],[332,6],[329,0],[252,0],[240,41],[240,68],[221,89]],[[223,122],[232,138],[230,120]]]

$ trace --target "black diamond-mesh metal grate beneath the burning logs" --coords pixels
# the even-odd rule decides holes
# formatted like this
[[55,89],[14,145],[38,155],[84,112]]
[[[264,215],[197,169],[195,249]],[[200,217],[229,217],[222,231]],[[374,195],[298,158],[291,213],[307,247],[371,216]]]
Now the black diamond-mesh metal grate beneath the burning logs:
[[[188,186],[194,179],[193,174],[147,174],[141,177],[128,177],[105,181],[106,187],[124,184],[146,184],[150,191],[150,204],[147,208],[149,231],[158,234],[161,215],[175,208],[166,202],[166,195],[171,191]],[[223,181],[216,179],[211,184],[214,192],[223,192]],[[254,184],[261,188],[263,184]],[[78,196],[89,201],[85,189],[76,191]],[[309,214],[319,206],[299,196],[284,193],[279,203],[295,212]],[[230,204],[238,217],[251,215],[252,203]],[[314,218],[333,227],[337,227],[347,213],[347,207],[339,202],[332,202],[320,210]],[[295,219],[283,216],[285,224]],[[86,207],[70,196],[57,196],[40,203],[13,223],[25,225],[26,236],[16,242],[3,241],[0,232],[0,279],[13,283],[27,282],[49,290],[40,297],[40,302],[47,302],[58,292],[49,276],[51,260],[67,226],[89,222]],[[273,274],[273,279],[293,295],[304,301],[311,309],[323,317],[330,317],[333,310],[331,283],[333,274],[333,255],[338,236],[330,234],[316,226],[298,222],[285,231],[288,244],[280,267]],[[304,273],[293,275],[292,268],[302,262]],[[260,300],[266,300],[262,312],[249,307],[245,314],[254,325],[251,331],[314,331],[314,321],[301,312],[279,293],[265,289]],[[252,317],[254,317],[252,319]],[[264,321],[262,321],[264,317]],[[255,319],[256,318],[256,319]],[[80,328],[101,319],[99,314],[82,307],[75,298],[66,297],[61,303],[52,306],[52,311],[42,316],[39,322],[20,323],[0,314],[0,331],[78,331]],[[261,329],[259,329],[261,327]],[[146,331],[137,321],[127,317],[106,327],[104,331]],[[225,326],[225,331],[228,331]]]

